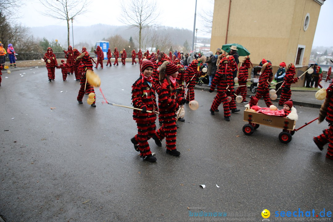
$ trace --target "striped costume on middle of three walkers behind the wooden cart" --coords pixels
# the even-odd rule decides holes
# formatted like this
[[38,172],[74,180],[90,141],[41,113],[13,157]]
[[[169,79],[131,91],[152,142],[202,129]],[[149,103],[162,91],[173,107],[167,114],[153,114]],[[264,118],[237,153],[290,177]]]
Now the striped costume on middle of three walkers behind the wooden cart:
[[262,65],[261,68],[261,75],[259,76],[259,86],[255,98],[259,100],[261,97],[263,97],[267,107],[270,107],[272,105],[269,97],[268,88],[268,81],[272,81],[272,75],[272,64],[270,62],[266,62]]

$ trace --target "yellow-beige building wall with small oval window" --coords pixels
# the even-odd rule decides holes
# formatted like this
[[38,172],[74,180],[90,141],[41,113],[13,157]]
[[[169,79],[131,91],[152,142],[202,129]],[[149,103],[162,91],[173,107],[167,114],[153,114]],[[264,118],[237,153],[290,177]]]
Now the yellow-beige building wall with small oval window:
[[[281,62],[294,64],[298,45],[304,45],[302,66],[307,67],[320,7],[314,0],[232,0],[225,41],[229,1],[215,0],[210,50],[240,44],[251,53],[253,65],[265,58],[272,62],[275,73]],[[310,22],[304,31],[307,13]],[[306,67],[296,69],[296,74]],[[300,82],[297,85],[303,84]]]

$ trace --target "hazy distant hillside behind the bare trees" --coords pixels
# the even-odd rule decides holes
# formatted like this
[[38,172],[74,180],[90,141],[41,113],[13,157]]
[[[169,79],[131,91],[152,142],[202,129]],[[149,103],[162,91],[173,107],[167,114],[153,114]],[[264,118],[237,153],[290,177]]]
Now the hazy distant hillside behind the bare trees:
[[[45,37],[48,40],[57,39],[63,46],[67,45],[66,26],[33,27],[30,28],[30,30],[36,38],[42,39],[43,37]],[[128,26],[111,26],[104,24],[96,24],[92,26],[74,25],[73,30],[75,44],[85,42],[91,46],[95,45],[97,41],[103,40],[103,38],[109,38],[110,36],[114,35],[120,35],[127,40],[129,40],[131,36],[134,39],[136,39],[136,37],[138,36],[137,29],[128,28]],[[192,42],[192,31],[188,29],[159,27],[155,30],[158,30],[158,32],[162,34],[168,34],[173,45],[183,46],[186,40],[188,43]],[[199,40],[199,38],[197,40]],[[72,24],[70,24],[70,43],[72,44]]]

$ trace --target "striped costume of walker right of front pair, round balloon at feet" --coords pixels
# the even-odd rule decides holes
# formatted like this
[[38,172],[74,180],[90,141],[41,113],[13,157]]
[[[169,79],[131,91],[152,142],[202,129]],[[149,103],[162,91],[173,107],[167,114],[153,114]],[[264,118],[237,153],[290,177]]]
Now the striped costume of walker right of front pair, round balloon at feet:
[[193,59],[191,64],[185,70],[184,80],[186,82],[187,89],[188,89],[188,93],[187,93],[187,97],[186,97],[187,102],[194,100],[194,87],[195,87],[196,77],[198,74],[197,68],[198,68],[198,61],[196,59]]

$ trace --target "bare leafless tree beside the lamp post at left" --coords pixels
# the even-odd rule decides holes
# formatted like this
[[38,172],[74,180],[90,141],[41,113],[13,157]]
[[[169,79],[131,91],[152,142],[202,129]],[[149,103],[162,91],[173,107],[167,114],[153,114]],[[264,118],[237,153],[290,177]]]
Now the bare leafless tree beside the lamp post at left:
[[67,22],[67,43],[69,44],[69,21],[74,19],[74,17],[87,12],[87,7],[89,5],[87,0],[39,0],[42,5],[44,5],[47,10],[40,12],[42,15],[66,20]]

